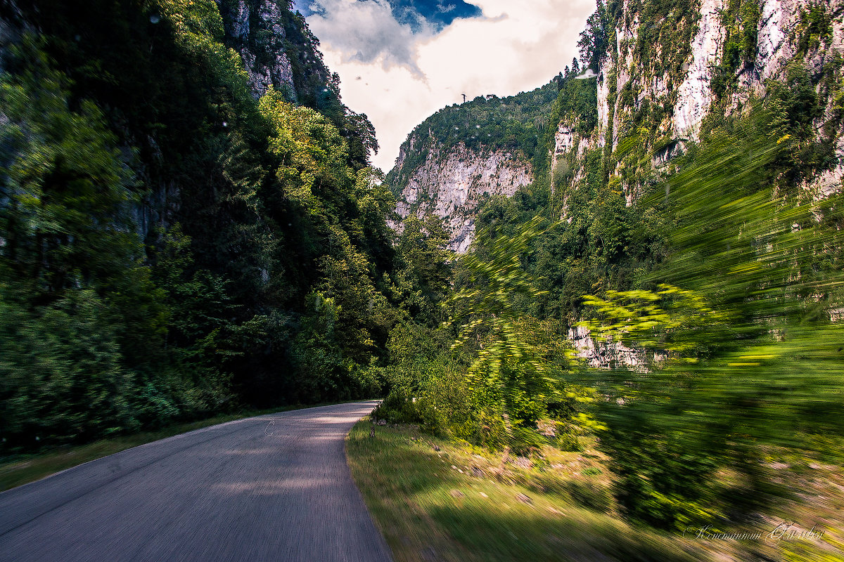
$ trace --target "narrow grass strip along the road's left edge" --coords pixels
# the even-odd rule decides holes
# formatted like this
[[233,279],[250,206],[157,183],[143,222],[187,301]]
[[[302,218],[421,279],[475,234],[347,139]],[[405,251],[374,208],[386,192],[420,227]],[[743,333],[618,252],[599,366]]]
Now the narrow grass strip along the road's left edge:
[[314,406],[325,406],[329,404],[339,403],[329,402],[307,406],[296,405],[285,406],[283,408],[243,410],[235,414],[215,415],[206,420],[167,426],[158,431],[143,431],[142,433],[101,439],[100,441],[90,442],[84,445],[55,447],[44,452],[3,457],[0,458],[0,491],[40,480],[66,468],[73,468],[78,464],[107,457],[125,449],[138,447],[138,445],[143,445],[144,443],[158,441],[159,439],[186,433],[187,431],[216,426],[226,421],[241,420],[255,415],[274,414],[291,409],[312,408]]

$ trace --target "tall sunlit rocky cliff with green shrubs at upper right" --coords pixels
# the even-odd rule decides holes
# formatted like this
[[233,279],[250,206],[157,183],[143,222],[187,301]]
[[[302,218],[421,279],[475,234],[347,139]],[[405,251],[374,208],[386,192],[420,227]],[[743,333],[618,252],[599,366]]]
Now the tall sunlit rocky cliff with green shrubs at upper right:
[[[562,115],[554,163],[571,147],[606,148],[628,202],[641,187],[641,159],[659,169],[725,115],[736,115],[771,88],[808,83],[812,138],[828,153],[806,187],[829,195],[841,187],[844,6],[835,0],[699,0],[599,5],[602,35],[589,45],[597,60],[598,126],[571,134],[576,115]],[[809,125],[809,124],[807,124]],[[636,150],[619,153],[631,139]],[[582,150],[570,164],[578,168]],[[576,189],[574,174],[565,189]]]

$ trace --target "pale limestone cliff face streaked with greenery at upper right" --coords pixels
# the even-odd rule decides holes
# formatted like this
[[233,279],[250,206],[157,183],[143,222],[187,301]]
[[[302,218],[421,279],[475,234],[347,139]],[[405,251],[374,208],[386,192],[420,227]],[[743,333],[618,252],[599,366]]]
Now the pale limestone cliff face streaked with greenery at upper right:
[[[647,12],[647,3],[643,4],[642,12]],[[598,126],[578,136],[566,132],[571,117],[563,115],[552,166],[584,142],[592,147],[609,145],[614,151],[619,142],[636,133],[637,141],[651,149],[652,166],[658,169],[687,142],[699,140],[707,115],[738,112],[750,99],[764,98],[771,81],[786,78],[789,65],[802,64],[812,78],[834,68],[831,82],[842,83],[844,66],[836,63],[844,55],[840,2],[762,0],[750,4],[744,0],[739,4],[752,9],[736,23],[738,15],[729,12],[728,0],[698,0],[689,13],[673,9],[648,12],[647,18],[625,0],[620,15],[610,21],[609,46],[598,69]],[[826,38],[807,40],[814,32],[809,13],[819,6],[830,14],[831,32]],[[729,33],[752,39],[749,51],[733,66],[724,60]],[[724,88],[724,83],[731,85]],[[829,89],[818,87],[818,94],[826,96],[825,111],[813,126],[819,139],[825,137],[835,145],[837,164],[821,171],[807,186],[821,196],[840,189],[844,178],[844,136],[841,127],[833,130],[827,125],[840,111],[836,109],[840,102]],[[575,175],[572,188],[577,179]],[[624,187],[632,201],[636,186]]]

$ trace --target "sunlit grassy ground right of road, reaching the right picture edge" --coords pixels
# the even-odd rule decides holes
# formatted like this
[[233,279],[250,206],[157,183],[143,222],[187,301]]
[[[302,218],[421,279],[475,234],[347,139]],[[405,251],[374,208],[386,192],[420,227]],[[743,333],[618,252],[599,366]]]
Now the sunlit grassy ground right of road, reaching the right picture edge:
[[658,533],[622,520],[598,452],[547,447],[533,459],[502,459],[415,426],[375,426],[371,437],[372,427],[369,418],[354,426],[346,454],[399,562],[844,560],[840,463],[793,452],[771,456],[766,468],[792,490],[791,499],[778,498],[764,513],[722,520],[717,528]]

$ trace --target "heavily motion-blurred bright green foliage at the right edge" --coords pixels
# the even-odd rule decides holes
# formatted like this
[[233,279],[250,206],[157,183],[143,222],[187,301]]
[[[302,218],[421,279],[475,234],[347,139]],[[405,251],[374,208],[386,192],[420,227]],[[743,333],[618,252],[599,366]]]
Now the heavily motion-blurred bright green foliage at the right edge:
[[840,233],[812,218],[816,204],[777,188],[788,139],[771,123],[755,114],[712,137],[666,180],[658,200],[676,224],[650,278],[673,286],[586,297],[603,316],[589,323],[598,333],[663,353],[647,372],[596,382],[602,447],[630,517],[711,520],[725,469],[741,474],[724,492],[733,508],[758,505],[776,493],[758,447],[803,447],[803,433],[841,419],[841,330],[830,323],[844,281],[833,265]]

